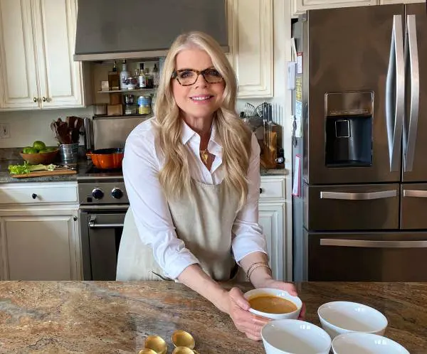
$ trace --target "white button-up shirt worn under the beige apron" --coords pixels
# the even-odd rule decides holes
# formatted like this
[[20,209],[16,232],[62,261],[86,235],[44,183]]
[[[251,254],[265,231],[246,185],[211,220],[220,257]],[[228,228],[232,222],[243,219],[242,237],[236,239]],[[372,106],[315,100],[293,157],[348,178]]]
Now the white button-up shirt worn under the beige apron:
[[[154,119],[154,118],[152,118]],[[158,173],[164,164],[162,152],[155,142],[152,119],[139,124],[127,137],[123,176],[139,237],[150,245],[154,259],[167,277],[176,279],[186,267],[199,263],[194,254],[176,237],[167,199],[159,183]],[[200,159],[200,136],[182,121],[181,141],[187,149],[191,177],[206,184],[219,184],[224,178],[221,139],[212,124],[208,150],[215,156],[211,171]],[[239,262],[252,252],[267,253],[263,230],[258,224],[260,191],[260,146],[252,135],[252,151],[248,168],[248,198],[236,216],[232,229],[234,258]]]

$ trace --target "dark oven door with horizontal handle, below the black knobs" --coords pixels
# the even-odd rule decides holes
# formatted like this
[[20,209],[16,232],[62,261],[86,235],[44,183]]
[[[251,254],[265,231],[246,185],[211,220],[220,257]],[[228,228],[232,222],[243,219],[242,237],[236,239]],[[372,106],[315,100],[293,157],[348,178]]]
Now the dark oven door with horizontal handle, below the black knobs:
[[80,210],[84,280],[115,280],[127,208]]

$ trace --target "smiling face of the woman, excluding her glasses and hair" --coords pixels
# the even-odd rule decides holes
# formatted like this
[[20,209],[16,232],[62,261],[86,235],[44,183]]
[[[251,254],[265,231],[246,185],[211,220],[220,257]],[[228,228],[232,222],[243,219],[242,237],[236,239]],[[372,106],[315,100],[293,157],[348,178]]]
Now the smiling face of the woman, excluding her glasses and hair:
[[[189,48],[181,50],[176,55],[175,70],[194,69],[202,71],[208,68],[214,68],[214,64],[212,64],[209,54],[204,50]],[[224,87],[223,80],[209,83],[201,74],[197,77],[196,82],[189,86],[182,86],[178,80],[172,80],[175,102],[186,117],[212,117],[212,114],[221,104]]]

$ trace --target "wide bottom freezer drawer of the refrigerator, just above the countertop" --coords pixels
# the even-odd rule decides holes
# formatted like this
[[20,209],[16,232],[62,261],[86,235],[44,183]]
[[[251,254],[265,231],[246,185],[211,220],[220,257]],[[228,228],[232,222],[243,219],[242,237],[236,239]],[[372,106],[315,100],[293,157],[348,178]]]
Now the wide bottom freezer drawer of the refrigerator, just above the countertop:
[[305,237],[309,281],[427,281],[427,232]]

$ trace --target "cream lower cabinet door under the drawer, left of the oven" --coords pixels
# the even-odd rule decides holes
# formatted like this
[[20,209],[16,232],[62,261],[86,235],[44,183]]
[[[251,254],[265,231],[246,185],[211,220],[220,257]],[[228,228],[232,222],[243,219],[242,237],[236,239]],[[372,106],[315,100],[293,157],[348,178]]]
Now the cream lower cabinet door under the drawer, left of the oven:
[[1,218],[4,279],[80,279],[75,213]]

